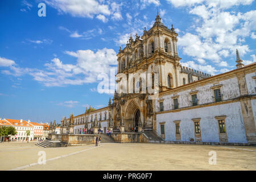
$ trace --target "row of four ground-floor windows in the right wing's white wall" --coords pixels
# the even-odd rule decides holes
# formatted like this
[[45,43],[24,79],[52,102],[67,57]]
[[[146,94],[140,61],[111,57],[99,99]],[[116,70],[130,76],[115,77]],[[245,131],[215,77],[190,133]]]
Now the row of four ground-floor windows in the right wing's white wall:
[[[226,126],[225,126],[225,119],[217,119],[218,122],[218,131],[219,133],[226,133]],[[195,133],[196,134],[201,134],[201,129],[200,129],[200,121],[194,122],[195,125]],[[161,134],[164,134],[164,124],[160,125],[161,129]],[[175,133],[180,134],[180,122],[175,123]]]

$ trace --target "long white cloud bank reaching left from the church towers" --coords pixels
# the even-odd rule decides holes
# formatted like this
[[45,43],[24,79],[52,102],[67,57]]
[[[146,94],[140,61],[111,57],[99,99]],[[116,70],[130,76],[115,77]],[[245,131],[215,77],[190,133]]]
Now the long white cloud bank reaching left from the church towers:
[[116,69],[117,53],[114,49],[103,48],[96,52],[88,49],[65,53],[76,57],[76,64],[64,64],[56,57],[44,64],[45,69],[15,67],[11,62],[6,64],[10,65],[10,70],[3,70],[2,73],[16,77],[28,74],[45,86],[65,86],[97,82],[98,75],[109,75],[110,69]]

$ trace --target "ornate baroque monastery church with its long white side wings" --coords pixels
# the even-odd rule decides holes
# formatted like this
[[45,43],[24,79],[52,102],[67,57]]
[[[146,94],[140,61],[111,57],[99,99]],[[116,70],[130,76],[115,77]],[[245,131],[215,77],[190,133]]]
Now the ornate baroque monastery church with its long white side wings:
[[177,35],[157,15],[150,30],[130,37],[117,54],[113,102],[72,115],[74,134],[97,126],[103,133],[151,132],[164,141],[255,144],[256,63],[243,65],[237,51],[237,68],[220,75],[182,67]]

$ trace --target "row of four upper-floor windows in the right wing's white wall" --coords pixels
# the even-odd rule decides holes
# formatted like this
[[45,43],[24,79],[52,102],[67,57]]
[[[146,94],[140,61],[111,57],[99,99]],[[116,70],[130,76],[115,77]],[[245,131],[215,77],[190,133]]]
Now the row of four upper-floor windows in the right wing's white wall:
[[[214,89],[213,91],[214,91],[214,102],[222,101],[221,90],[220,89]],[[174,98],[173,101],[174,101],[174,105],[173,105],[172,108],[173,109],[178,109],[179,108],[178,99]],[[192,106],[198,105],[197,94],[191,94],[191,102],[192,102]],[[164,110],[163,101],[159,102],[159,107],[160,107],[160,111]]]

